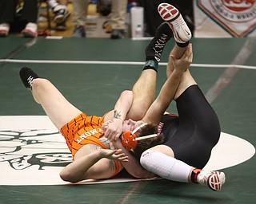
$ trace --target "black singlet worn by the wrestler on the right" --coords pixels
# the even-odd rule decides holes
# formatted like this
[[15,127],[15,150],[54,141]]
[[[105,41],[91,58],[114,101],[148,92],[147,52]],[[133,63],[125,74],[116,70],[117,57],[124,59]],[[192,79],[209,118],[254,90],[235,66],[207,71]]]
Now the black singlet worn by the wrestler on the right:
[[220,137],[218,116],[196,84],[178,97],[176,105],[178,116],[162,116],[164,144],[176,159],[202,169]]

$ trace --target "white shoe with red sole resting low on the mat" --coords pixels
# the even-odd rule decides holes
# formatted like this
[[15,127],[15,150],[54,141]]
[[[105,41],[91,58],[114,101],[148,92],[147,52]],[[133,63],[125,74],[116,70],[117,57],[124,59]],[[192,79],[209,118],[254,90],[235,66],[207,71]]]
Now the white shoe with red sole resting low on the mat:
[[225,183],[225,174],[221,171],[200,171],[197,176],[197,182],[202,186],[209,186],[211,190],[218,191],[222,189]]

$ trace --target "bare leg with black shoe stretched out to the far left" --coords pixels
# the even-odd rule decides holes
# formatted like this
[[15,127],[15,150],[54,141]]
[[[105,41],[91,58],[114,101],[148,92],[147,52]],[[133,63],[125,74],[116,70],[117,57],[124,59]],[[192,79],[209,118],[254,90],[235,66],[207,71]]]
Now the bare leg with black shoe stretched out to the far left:
[[49,80],[39,78],[36,73],[27,68],[21,69],[20,75],[25,86],[32,91],[34,100],[41,104],[58,130],[82,113],[70,104]]

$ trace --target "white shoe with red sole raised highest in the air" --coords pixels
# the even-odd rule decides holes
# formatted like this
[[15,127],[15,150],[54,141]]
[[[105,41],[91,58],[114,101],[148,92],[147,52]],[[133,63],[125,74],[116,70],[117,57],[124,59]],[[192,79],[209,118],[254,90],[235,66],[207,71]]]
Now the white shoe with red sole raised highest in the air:
[[158,6],[158,13],[168,23],[174,33],[174,39],[178,43],[186,43],[191,39],[191,32],[182,18],[178,9],[168,3],[161,3]]

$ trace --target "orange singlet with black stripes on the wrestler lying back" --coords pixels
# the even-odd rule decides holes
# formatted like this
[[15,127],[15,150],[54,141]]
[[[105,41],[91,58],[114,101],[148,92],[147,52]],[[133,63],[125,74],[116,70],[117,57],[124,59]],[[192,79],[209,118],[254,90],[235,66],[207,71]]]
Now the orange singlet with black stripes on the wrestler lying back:
[[[61,128],[60,132],[66,139],[66,144],[72,153],[73,159],[77,151],[86,144],[95,144],[103,149],[109,149],[100,141],[100,138],[104,135],[101,127],[105,116],[106,114],[102,117],[86,116],[85,113],[82,113]],[[114,163],[116,167],[114,175],[117,175],[120,171],[120,163],[116,160],[114,160]]]

